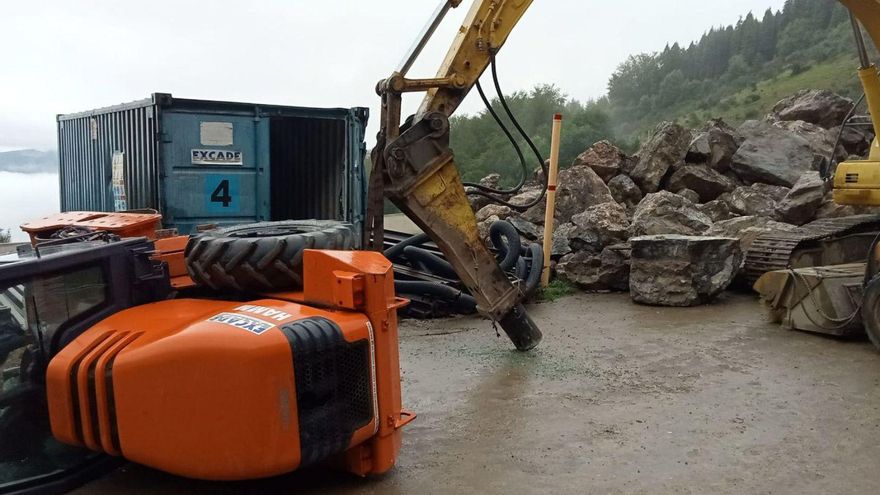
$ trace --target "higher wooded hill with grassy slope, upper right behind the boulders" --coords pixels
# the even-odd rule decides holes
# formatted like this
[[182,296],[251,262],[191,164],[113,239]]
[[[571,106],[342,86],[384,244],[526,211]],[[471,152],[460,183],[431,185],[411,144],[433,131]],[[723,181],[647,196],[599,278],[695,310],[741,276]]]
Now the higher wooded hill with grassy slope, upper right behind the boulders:
[[629,57],[611,76],[607,103],[622,136],[644,135],[662,120],[697,127],[723,117],[738,124],[799,89],[858,98],[857,66],[840,2],[788,0],[781,11],[749,12],[733,26],[711,28],[687,47],[674,43]]

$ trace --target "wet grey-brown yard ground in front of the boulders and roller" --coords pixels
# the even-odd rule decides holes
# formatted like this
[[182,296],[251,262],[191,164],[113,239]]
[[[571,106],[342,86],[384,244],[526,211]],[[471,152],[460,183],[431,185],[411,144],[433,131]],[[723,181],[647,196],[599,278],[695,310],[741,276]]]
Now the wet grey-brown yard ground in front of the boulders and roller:
[[880,354],[764,322],[757,300],[533,305],[511,350],[475,318],[405,322],[398,466],[207,483],[125,467],[79,493],[880,493]]

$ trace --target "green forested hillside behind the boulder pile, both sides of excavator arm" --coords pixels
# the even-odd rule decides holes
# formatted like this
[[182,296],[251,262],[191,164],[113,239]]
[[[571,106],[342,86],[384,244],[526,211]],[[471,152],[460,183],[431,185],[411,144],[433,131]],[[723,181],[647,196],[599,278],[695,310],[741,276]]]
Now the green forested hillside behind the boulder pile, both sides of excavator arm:
[[[545,85],[508,101],[545,154],[550,117],[565,115],[560,163],[566,166],[600,139],[635,151],[639,139],[663,120],[699,127],[722,117],[735,125],[760,117],[799,89],[831,89],[853,98],[861,93],[848,13],[836,0],[788,0],[781,11],[743,15],[736,25],[710,28],[687,47],[673,43],[631,56],[598,100],[573,101],[566,90],[575,88]],[[497,101],[493,106],[502,113]],[[515,180],[518,159],[491,116],[455,117],[452,126],[452,146],[467,180],[489,172]],[[529,166],[537,166],[533,158]]]

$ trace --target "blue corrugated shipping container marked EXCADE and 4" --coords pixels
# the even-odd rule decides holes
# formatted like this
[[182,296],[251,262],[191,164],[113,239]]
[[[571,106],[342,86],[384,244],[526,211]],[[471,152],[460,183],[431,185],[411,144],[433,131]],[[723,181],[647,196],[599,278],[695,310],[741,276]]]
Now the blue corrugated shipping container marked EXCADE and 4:
[[166,93],[59,115],[61,210],[151,208],[184,234],[309,218],[360,231],[368,115]]

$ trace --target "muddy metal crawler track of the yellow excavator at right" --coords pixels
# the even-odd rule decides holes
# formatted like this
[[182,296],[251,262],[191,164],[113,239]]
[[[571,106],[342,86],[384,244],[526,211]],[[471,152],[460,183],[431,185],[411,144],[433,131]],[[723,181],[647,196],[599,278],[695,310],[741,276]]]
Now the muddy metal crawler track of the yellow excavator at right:
[[[761,235],[746,252],[746,279],[749,284],[754,284],[761,275],[769,271],[790,268],[798,249],[815,246],[820,241],[870,232],[880,232],[880,215],[822,218],[803,225],[800,232],[773,232]],[[863,259],[849,262],[856,261]]]

